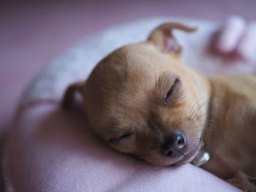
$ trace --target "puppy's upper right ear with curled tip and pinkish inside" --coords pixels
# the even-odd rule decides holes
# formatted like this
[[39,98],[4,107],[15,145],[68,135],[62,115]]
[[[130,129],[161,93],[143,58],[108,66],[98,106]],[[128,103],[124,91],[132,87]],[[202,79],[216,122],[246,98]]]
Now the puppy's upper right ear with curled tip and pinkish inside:
[[163,53],[175,53],[180,55],[182,47],[178,45],[175,37],[173,37],[173,29],[179,29],[186,32],[197,30],[197,28],[184,26],[180,23],[163,23],[151,32],[148,37],[148,42],[153,43],[157,49]]

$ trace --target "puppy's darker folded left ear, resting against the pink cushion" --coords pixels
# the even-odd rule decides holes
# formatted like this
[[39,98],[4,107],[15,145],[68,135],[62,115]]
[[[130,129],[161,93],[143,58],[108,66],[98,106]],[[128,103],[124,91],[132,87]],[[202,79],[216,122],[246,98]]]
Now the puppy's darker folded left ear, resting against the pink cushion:
[[75,82],[69,85],[69,87],[64,93],[64,98],[61,102],[61,107],[64,110],[69,110],[72,107],[72,104],[75,100],[75,93],[82,93],[84,84],[85,82]]

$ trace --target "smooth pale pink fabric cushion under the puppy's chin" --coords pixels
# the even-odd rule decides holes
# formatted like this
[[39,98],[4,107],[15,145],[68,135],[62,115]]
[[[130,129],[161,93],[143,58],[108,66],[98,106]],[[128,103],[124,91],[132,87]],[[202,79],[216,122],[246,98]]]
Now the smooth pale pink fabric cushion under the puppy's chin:
[[203,169],[146,165],[110,149],[79,112],[38,104],[18,115],[9,174],[19,192],[239,191]]

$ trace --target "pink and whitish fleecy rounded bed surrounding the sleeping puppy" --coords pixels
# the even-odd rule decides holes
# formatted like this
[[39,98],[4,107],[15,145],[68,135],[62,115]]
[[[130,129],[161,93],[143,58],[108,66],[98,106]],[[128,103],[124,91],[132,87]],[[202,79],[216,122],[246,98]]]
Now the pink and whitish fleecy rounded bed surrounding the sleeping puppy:
[[[70,82],[85,79],[102,56],[146,39],[154,26],[166,20],[180,19],[154,18],[110,28],[73,47],[35,78],[21,99],[7,139],[6,191],[240,191],[192,164],[152,166],[117,153],[94,135],[83,113],[59,108]],[[223,59],[208,55],[207,45],[218,23],[181,21],[200,27],[192,35],[177,33],[185,47],[184,63],[208,75],[253,71],[240,61],[225,65]]]

